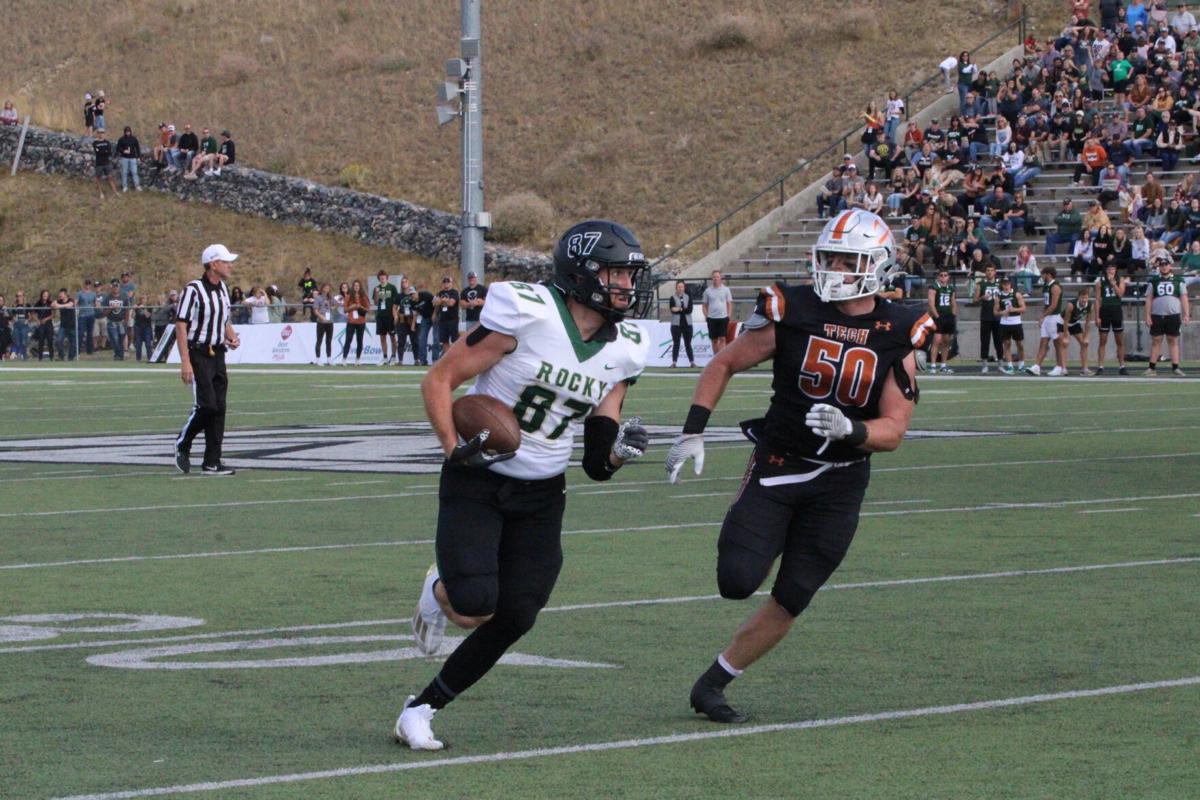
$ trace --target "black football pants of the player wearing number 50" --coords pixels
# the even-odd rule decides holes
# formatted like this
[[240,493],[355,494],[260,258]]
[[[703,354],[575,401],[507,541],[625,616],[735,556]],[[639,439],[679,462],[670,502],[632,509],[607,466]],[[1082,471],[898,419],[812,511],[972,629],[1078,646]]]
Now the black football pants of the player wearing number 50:
[[[763,474],[760,463],[751,458],[742,489],[725,515],[716,545],[718,581],[736,575],[754,584],[745,589],[757,589],[775,559],[782,557],[772,595],[798,614],[850,549],[871,465],[864,457],[803,482],[763,486],[762,480],[781,476],[772,474],[774,470]],[[812,470],[821,467],[806,464]],[[721,590],[724,594],[726,587]]]

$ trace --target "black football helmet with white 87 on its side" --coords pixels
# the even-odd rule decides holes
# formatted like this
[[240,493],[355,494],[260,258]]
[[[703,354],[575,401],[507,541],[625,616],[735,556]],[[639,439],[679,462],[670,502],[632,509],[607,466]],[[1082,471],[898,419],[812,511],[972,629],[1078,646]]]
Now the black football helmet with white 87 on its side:
[[[600,270],[612,266],[632,270],[631,288],[622,290],[629,297],[626,308],[614,307],[610,288],[600,282]],[[646,255],[637,236],[608,219],[588,219],[571,227],[554,247],[554,287],[613,323],[637,313],[642,297],[637,284],[644,269]]]

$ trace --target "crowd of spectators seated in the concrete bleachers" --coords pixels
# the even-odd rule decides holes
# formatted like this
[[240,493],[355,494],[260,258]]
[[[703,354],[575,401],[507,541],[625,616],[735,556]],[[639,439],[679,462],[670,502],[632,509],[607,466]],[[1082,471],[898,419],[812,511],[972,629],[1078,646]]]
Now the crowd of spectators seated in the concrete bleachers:
[[[821,190],[818,216],[859,207],[907,219],[899,260],[917,278],[995,264],[1028,290],[1039,273],[1032,249],[1008,265],[992,249],[1050,225],[1042,252],[1066,247],[1073,278],[1096,279],[1110,263],[1141,273],[1151,251],[1165,248],[1200,279],[1200,181],[1180,167],[1200,161],[1200,28],[1186,5],[1111,0],[1094,11],[1099,22],[1092,4],[1073,2],[1062,32],[1026,40],[1007,76],[982,71],[966,52],[943,61],[959,96],[944,127],[905,127],[895,91],[869,106],[866,176],[847,154]],[[1028,197],[1046,164],[1070,164],[1074,185],[1096,192],[1085,209],[1064,199],[1039,218]]]

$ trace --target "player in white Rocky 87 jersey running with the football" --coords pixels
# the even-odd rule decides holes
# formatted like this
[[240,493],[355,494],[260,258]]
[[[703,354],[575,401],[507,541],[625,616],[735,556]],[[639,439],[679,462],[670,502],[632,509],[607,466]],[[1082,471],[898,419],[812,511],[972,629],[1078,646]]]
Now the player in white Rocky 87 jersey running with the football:
[[[533,627],[563,564],[568,459],[583,420],[583,470],[608,480],[646,452],[636,419],[620,422],[626,389],[646,366],[649,339],[632,323],[638,272],[634,234],[605,219],[582,222],[554,248],[551,285],[493,283],[479,325],[421,383],[425,410],[446,453],[438,497],[437,564],[413,618],[416,646],[436,654],[446,620],[470,630],[440,672],[410,696],[396,740],[440,750],[433,715],[482,678]],[[486,450],[486,434],[462,441],[452,392],[511,405],[521,426],[515,453]]]

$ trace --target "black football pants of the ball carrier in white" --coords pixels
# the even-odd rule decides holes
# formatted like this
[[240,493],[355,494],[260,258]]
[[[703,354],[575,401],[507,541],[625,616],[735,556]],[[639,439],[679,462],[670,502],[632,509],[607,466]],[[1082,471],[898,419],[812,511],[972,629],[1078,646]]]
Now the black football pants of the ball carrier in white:
[[[550,600],[563,566],[566,479],[505,477],[446,464],[438,485],[438,573],[450,604],[481,616],[497,603]],[[467,595],[470,603],[466,604]],[[484,607],[478,607],[480,596]],[[488,607],[490,606],[490,607]]]

